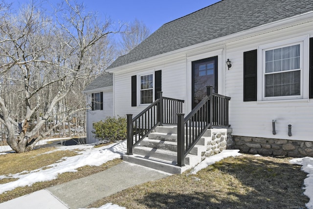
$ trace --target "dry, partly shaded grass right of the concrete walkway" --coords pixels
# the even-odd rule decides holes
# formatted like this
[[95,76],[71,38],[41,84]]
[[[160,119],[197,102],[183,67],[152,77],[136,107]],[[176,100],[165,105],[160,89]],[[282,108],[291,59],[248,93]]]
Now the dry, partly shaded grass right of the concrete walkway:
[[90,207],[106,203],[128,209],[282,209],[305,208],[306,173],[290,158],[242,155],[201,170],[126,189]]

